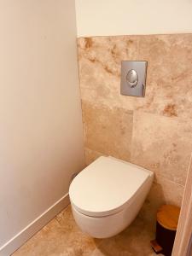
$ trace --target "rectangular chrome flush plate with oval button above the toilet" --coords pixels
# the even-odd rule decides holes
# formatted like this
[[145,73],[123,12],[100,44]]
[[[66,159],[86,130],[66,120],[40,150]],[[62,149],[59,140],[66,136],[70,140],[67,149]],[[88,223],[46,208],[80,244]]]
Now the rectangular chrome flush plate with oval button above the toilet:
[[145,96],[147,61],[121,61],[120,94]]

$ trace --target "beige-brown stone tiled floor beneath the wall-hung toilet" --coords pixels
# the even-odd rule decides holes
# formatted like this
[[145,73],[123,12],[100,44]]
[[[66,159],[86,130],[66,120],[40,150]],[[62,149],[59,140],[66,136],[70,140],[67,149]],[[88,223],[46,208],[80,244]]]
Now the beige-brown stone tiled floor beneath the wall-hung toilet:
[[103,240],[91,238],[79,230],[69,206],[12,255],[154,256],[149,244],[152,238],[153,228],[141,218],[118,236]]

